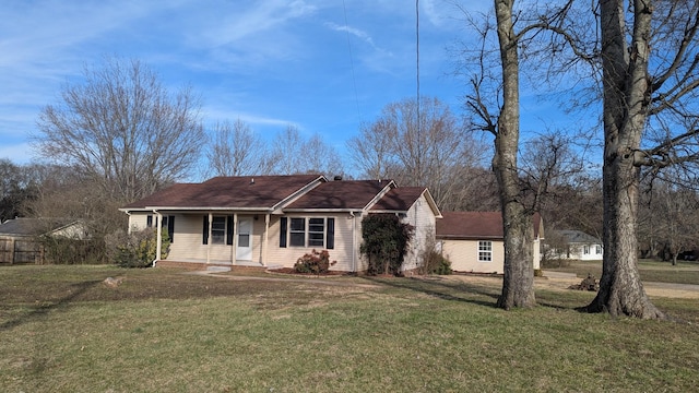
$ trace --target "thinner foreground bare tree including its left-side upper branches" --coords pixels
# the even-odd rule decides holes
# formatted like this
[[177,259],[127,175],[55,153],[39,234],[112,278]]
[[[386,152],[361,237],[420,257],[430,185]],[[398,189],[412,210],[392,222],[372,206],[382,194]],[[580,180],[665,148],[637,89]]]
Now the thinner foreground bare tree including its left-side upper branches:
[[[519,46],[525,32],[514,29],[514,0],[495,0],[499,73],[491,73],[486,66],[488,35],[493,26],[479,29],[483,47],[476,55],[479,71],[471,79],[471,94],[466,106],[477,119],[476,126],[495,136],[493,170],[497,178],[505,234],[505,274],[498,307],[511,309],[536,305],[534,296],[534,264],[531,225],[533,210],[526,206],[520,188],[518,152],[520,143],[520,55]],[[486,21],[487,22],[487,21]],[[497,81],[499,83],[493,83]],[[496,111],[485,88],[495,84],[497,98],[501,99]]]

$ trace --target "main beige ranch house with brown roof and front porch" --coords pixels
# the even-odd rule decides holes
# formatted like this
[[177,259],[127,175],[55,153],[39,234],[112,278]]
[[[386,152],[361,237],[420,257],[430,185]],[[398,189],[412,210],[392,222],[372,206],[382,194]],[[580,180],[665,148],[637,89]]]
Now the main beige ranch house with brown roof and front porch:
[[215,177],[174,184],[120,210],[130,229],[167,230],[169,254],[157,265],[291,267],[316,249],[328,250],[337,262],[332,269],[345,272],[367,270],[359,253],[363,217],[395,214],[415,227],[404,271],[420,264],[441,217],[426,188],[319,175]]

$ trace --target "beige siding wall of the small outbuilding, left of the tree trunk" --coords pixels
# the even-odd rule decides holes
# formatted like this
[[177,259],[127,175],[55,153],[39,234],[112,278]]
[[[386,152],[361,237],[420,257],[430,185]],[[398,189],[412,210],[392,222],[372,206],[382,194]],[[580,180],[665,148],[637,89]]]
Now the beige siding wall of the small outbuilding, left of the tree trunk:
[[493,260],[478,261],[478,240],[442,240],[442,255],[451,261],[457,272],[499,273],[505,270],[505,243],[502,240],[487,240],[493,245]]

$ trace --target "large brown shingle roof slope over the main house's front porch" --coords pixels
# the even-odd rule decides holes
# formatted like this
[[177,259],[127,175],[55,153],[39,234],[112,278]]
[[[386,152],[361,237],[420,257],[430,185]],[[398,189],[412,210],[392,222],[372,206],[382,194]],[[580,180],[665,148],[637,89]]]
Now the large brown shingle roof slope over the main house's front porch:
[[[215,177],[202,183],[178,183],[125,209],[271,209],[320,175]],[[324,181],[324,180],[323,180]]]

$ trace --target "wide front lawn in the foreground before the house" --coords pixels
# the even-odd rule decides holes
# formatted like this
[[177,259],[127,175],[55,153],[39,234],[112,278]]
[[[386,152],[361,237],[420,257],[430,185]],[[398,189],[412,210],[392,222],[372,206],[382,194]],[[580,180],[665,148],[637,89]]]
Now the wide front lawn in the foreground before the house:
[[[123,277],[116,288],[107,276]],[[494,308],[467,277],[262,279],[108,266],[0,269],[2,392],[687,392],[691,323],[612,319],[594,294]],[[275,277],[275,276],[274,276]],[[236,278],[236,279],[233,279]],[[495,281],[494,283],[497,283]]]

